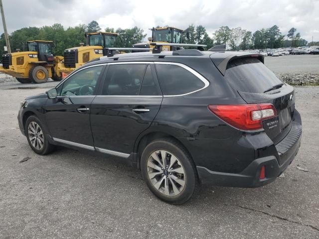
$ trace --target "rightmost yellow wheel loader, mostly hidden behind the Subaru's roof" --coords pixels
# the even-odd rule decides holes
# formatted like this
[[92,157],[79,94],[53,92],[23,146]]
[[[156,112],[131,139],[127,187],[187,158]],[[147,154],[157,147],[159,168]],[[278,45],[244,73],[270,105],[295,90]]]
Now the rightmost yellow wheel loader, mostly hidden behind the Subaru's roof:
[[[158,28],[151,28],[152,30],[152,37],[149,37],[149,42],[141,42],[136,43],[133,45],[133,47],[138,48],[154,48],[154,45],[151,45],[151,43],[176,43],[176,44],[182,44],[182,34],[183,30],[178,29],[176,27],[158,27]],[[162,51],[174,51],[175,46],[162,46]]]

